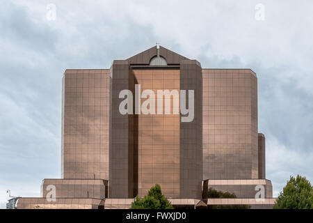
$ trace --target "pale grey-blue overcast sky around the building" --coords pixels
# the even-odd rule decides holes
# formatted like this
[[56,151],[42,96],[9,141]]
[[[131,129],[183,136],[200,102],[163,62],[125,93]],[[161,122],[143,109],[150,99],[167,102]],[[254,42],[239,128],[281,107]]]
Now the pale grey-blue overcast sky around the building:
[[[56,6],[56,20],[47,5]],[[264,6],[264,20],[255,10]],[[313,1],[0,3],[0,208],[61,177],[61,79],[161,43],[202,68],[251,68],[273,195],[313,181]]]

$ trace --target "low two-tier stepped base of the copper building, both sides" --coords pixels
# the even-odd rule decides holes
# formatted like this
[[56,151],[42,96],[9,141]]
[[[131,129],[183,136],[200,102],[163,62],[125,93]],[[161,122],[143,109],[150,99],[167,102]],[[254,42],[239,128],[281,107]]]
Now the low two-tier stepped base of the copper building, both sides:
[[[51,196],[55,190],[55,199]],[[45,179],[42,180],[41,197],[22,197],[17,201],[17,209],[128,209],[134,198],[110,198],[109,184],[103,179]],[[204,193],[209,188],[235,194],[236,198],[208,199]],[[263,190],[264,199],[256,194]],[[262,196],[261,196],[262,197]],[[174,208],[272,208],[271,180],[229,179],[203,180],[202,198],[168,198]],[[232,206],[232,207],[230,207]]]

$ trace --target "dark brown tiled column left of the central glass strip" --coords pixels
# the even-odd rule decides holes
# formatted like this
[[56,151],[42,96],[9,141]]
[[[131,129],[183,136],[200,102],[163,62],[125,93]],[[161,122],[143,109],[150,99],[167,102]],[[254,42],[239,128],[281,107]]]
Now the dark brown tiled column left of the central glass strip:
[[131,74],[128,61],[113,61],[110,71],[110,198],[134,197],[134,115],[119,111],[120,102],[125,100],[119,98],[120,91],[134,93]]

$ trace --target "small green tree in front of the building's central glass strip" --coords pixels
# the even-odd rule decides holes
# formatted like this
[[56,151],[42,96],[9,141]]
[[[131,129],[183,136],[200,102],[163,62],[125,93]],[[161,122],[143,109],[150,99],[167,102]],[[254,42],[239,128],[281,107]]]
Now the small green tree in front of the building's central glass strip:
[[151,187],[150,191],[143,198],[136,197],[131,203],[131,209],[173,209],[170,201],[161,192],[160,185]]

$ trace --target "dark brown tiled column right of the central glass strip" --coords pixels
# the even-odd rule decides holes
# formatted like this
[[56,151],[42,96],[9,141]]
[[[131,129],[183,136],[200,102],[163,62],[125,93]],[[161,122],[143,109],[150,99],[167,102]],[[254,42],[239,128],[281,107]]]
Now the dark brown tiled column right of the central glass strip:
[[[184,198],[202,197],[202,68],[198,61],[180,63],[180,90],[194,90],[194,118],[180,122],[180,194]],[[182,91],[181,91],[182,94]],[[182,103],[182,101],[181,101]]]

